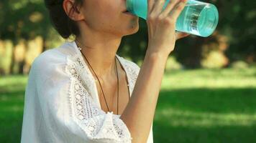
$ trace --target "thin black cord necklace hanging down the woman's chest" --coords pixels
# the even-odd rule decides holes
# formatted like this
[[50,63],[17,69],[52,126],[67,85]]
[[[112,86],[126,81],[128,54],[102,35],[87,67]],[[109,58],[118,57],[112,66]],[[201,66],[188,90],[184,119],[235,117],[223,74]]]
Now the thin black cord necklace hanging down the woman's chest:
[[[76,39],[76,41],[78,42],[78,44],[81,44],[81,42],[78,41],[78,39]],[[81,45],[83,46],[83,44],[81,44]],[[81,48],[78,47],[78,49],[81,51]],[[83,57],[86,59],[86,56],[83,54],[82,51],[81,51],[81,54],[82,54]],[[92,68],[91,64],[89,63],[88,59],[86,59],[86,61],[88,62],[88,65],[91,67],[91,69],[92,69],[92,71],[93,71],[93,74],[96,76],[96,78],[97,78],[97,80],[98,80],[98,82],[99,82],[99,86],[101,87],[101,92],[102,92],[102,94],[103,94],[103,96],[104,96],[104,101],[105,101],[105,103],[106,103],[106,107],[107,107],[107,109],[108,109],[108,111],[109,111],[109,106],[108,106],[108,104],[107,104],[107,102],[106,102],[106,97],[105,97],[104,91],[103,91],[103,89],[102,89],[101,82],[99,81],[99,78],[98,78],[97,74],[95,73],[95,71],[93,70],[93,68]],[[117,79],[117,114],[118,114],[118,107],[119,107],[119,106],[118,106],[118,104],[119,104],[119,75],[118,75],[118,70],[117,70],[117,66],[116,66],[116,57],[115,57],[114,61],[115,61],[116,79]],[[128,91],[129,91],[129,89],[128,89]],[[109,111],[109,112],[110,112],[110,111]]]

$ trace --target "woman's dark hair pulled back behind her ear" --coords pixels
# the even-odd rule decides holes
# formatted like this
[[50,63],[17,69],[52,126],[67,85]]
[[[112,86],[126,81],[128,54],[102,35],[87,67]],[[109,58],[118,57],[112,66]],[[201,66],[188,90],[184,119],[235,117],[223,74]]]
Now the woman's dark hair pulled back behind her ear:
[[[81,4],[83,4],[83,0],[75,0],[73,9],[70,9],[70,11],[76,11],[76,6]],[[76,21],[73,21],[68,16],[70,11],[67,15],[63,9],[63,0],[45,0],[45,6],[48,9],[50,21],[60,36],[67,39],[72,34],[80,35]]]

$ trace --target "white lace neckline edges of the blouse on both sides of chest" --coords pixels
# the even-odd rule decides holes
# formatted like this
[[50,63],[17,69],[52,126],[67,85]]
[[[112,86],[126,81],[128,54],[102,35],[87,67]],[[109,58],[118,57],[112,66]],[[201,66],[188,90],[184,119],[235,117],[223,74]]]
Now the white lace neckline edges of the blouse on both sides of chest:
[[[81,54],[81,51],[78,49],[78,46],[77,46],[76,42],[75,42],[75,41],[72,41],[71,44],[72,44],[73,48],[75,49],[76,54],[79,55],[79,58],[80,58],[80,59],[83,59],[83,56],[82,56],[82,54]],[[128,74],[128,71],[129,71],[129,70],[128,70],[127,67],[125,66],[125,63],[124,63],[124,61],[123,61],[124,59],[123,59],[121,56],[118,56],[118,55],[116,54],[116,58],[119,60],[120,65],[122,66],[122,68],[123,68],[124,71],[125,71],[125,75],[126,75],[126,78],[127,78],[127,82],[128,82],[128,84],[129,84],[129,88],[128,88],[128,89],[129,89],[129,97],[131,97],[131,96],[132,96],[132,89],[131,89],[131,85],[132,85],[132,81],[131,81],[131,80],[132,80],[132,79],[131,79],[131,77],[129,77],[129,74]],[[92,74],[91,71],[88,69],[88,65],[86,64],[86,62],[85,62],[84,60],[81,60],[81,61],[82,61],[83,66],[86,67],[85,70],[87,70],[87,72],[88,72],[90,78],[91,78],[91,79],[94,79],[93,74]],[[97,87],[96,87],[96,82],[95,82],[95,80],[93,80],[93,89],[94,89],[94,93],[96,93],[97,104],[98,104],[99,108],[101,109],[101,104],[100,104],[100,102],[99,102],[99,93],[98,93],[98,91],[97,91]]]

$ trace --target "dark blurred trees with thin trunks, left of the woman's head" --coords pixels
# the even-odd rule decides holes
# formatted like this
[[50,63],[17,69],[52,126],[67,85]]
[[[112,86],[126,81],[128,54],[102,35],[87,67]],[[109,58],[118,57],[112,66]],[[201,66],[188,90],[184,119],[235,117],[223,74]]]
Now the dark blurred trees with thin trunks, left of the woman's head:
[[[14,73],[16,45],[22,40],[25,52],[27,51],[27,42],[35,39],[36,36],[42,36],[45,43],[50,33],[51,25],[47,18],[47,12],[43,1],[40,0],[1,0],[0,1],[0,39],[11,39],[14,44],[12,50],[12,64],[10,66],[11,74]],[[24,40],[24,41],[23,41]],[[45,45],[42,50],[45,49]],[[23,73],[24,58],[18,62],[19,74]]]

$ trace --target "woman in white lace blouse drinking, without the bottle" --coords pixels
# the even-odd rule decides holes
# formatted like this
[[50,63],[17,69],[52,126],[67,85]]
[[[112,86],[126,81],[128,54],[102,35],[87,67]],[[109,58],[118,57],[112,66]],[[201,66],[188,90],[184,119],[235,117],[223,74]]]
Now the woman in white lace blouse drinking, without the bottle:
[[149,43],[137,66],[118,55],[122,36],[139,29],[124,0],[45,0],[63,38],[29,71],[22,142],[153,142],[152,121],[165,63],[186,0],[148,0]]

